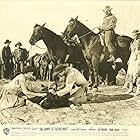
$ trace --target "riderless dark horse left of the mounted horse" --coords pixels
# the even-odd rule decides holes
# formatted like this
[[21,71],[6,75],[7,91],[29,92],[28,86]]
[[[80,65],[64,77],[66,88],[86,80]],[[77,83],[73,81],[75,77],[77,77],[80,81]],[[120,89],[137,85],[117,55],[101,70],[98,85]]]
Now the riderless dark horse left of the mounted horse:
[[61,36],[47,29],[44,25],[36,24],[34,26],[33,34],[29,40],[30,44],[35,45],[37,41],[42,39],[48,48],[50,59],[54,62],[65,63],[66,56],[69,53],[70,57],[67,63],[72,63],[75,66],[77,62],[80,62],[84,69],[84,75],[88,79],[88,66],[81,48],[68,46]]

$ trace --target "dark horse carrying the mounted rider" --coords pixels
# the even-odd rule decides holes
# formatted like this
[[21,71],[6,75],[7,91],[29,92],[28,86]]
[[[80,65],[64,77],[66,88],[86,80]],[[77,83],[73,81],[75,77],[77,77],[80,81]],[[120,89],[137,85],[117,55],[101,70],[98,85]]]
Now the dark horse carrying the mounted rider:
[[[89,62],[89,69],[91,72],[91,85],[94,87],[98,86],[98,74],[99,74],[99,63],[101,57],[104,58],[102,61],[106,62],[109,57],[109,52],[101,45],[99,34],[95,34],[84,24],[75,19],[71,18],[68,26],[64,31],[64,38],[69,39],[74,35],[78,35],[79,40],[83,46],[83,52],[86,60]],[[116,48],[119,53],[119,57],[123,61],[123,65],[117,69],[120,70],[122,67],[127,71],[127,61],[130,56],[129,46],[132,41],[130,37],[115,35],[115,42],[117,43]],[[125,44],[125,45],[124,45]],[[104,69],[104,68],[103,68]]]

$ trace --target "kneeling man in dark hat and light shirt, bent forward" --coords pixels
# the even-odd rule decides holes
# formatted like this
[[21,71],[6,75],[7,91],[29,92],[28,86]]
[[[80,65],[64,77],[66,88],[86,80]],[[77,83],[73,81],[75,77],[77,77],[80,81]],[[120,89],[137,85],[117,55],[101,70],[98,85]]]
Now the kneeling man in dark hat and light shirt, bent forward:
[[[68,67],[66,64],[56,66],[54,70],[54,78],[59,78],[58,82],[62,82],[63,86],[54,93],[59,99],[66,99],[70,104],[81,105],[88,99],[87,87],[89,85],[85,77],[77,69]],[[61,102],[61,100],[60,100]],[[62,100],[63,102],[63,100]]]

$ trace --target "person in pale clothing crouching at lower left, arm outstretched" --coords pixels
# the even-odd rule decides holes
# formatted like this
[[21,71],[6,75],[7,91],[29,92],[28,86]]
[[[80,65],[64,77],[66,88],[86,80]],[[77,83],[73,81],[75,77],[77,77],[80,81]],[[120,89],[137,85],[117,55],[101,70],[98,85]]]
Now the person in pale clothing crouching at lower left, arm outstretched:
[[38,93],[29,91],[26,85],[26,80],[32,77],[34,68],[26,66],[23,72],[17,75],[12,81],[6,84],[0,93],[0,110],[23,106],[27,99],[34,97],[46,96],[46,93]]

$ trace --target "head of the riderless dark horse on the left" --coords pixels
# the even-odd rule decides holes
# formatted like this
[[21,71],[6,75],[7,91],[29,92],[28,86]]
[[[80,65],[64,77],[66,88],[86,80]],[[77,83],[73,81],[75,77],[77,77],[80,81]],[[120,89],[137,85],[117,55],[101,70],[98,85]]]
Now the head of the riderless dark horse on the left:
[[43,33],[43,27],[45,26],[45,24],[43,24],[42,26],[41,25],[38,25],[36,24],[34,26],[34,29],[33,29],[33,33],[32,33],[32,36],[29,40],[29,43],[31,45],[35,45],[36,42],[38,42],[39,40],[42,39],[42,33]]

